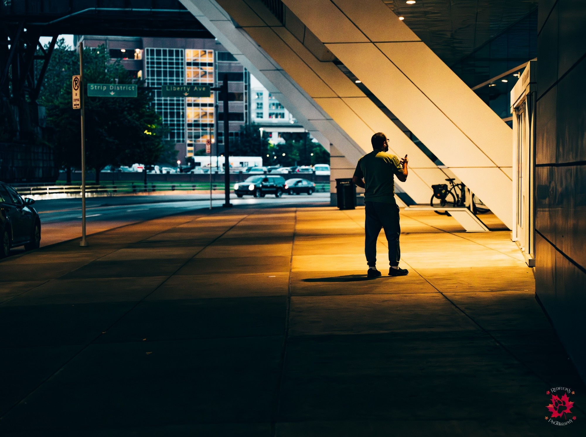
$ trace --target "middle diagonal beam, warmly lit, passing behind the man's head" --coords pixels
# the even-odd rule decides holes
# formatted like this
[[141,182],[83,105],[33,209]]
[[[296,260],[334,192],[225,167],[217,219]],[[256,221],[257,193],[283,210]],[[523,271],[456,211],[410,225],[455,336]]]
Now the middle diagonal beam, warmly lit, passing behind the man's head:
[[[374,132],[386,132],[391,139],[392,151],[399,156],[410,156],[412,176],[406,183],[400,183],[401,189],[417,203],[429,202],[431,184],[444,182],[448,176],[335,64],[318,59],[317,56],[323,55],[323,50],[327,49],[315,37],[308,43],[308,33],[311,32],[295,27],[304,27],[298,19],[296,22],[295,17],[288,16],[288,26],[285,27],[259,0],[217,0],[217,6],[344,129],[360,146],[360,155],[372,150],[370,136]],[[321,45],[322,49],[317,45]],[[357,157],[352,159],[352,153],[348,153],[347,148],[336,145],[335,149],[342,156],[334,161],[340,161],[341,158],[345,160],[340,161],[339,168],[337,165],[332,166],[332,173],[340,173],[332,174],[332,182],[335,177],[351,175],[357,161]],[[333,183],[331,187],[333,190]]]

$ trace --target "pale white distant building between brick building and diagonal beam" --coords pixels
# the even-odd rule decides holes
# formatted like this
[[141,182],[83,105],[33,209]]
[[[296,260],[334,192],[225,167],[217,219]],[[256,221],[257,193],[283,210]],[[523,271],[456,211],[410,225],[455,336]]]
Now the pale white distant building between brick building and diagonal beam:
[[282,132],[305,131],[291,112],[275,99],[274,95],[269,93],[267,88],[252,74],[250,75],[250,95],[250,119],[269,133],[269,141],[272,143],[284,142],[284,139],[281,138]]

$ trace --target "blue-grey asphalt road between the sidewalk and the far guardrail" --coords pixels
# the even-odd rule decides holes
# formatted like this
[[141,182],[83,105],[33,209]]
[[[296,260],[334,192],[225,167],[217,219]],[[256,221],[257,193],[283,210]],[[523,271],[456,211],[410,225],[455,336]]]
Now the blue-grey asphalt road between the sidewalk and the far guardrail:
[[[222,207],[223,203],[223,195],[213,196],[214,208]],[[284,194],[280,199],[269,194],[261,199],[253,197],[237,199],[232,195],[230,203],[237,207],[327,206],[329,193],[314,193],[312,196]],[[86,203],[87,234],[185,211],[209,209],[209,206],[209,196],[205,194],[90,197]],[[37,200],[34,207],[41,219],[41,246],[81,236],[81,199]],[[11,254],[22,251],[22,247],[15,248]]]

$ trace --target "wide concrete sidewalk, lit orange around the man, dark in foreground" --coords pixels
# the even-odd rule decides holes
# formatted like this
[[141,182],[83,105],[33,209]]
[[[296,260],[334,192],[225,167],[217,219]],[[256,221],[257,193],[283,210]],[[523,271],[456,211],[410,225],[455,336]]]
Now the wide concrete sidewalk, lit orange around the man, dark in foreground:
[[0,435],[549,436],[558,386],[584,421],[509,233],[402,213],[410,274],[381,234],[366,280],[363,220],[197,211],[0,262]]

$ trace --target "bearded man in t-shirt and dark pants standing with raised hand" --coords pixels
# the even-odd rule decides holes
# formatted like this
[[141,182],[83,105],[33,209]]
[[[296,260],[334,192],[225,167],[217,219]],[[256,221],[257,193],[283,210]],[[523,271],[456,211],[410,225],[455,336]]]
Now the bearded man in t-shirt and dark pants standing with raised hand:
[[389,242],[389,276],[405,276],[407,269],[399,268],[401,249],[399,248],[399,207],[395,202],[395,183],[393,175],[401,182],[407,180],[407,155],[398,159],[388,153],[389,140],[383,132],[377,132],[370,138],[373,151],[358,160],[352,181],[364,188],[366,221],[364,231],[364,253],[369,269],[367,276],[376,278],[380,272],[376,269],[376,240],[380,228]]

